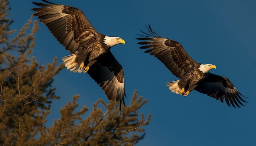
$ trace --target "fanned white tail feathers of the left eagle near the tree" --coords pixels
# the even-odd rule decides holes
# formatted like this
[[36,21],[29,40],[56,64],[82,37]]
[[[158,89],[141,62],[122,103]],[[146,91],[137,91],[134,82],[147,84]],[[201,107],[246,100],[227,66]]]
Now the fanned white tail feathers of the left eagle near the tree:
[[65,67],[67,67],[67,69],[69,69],[70,71],[74,71],[74,73],[78,72],[81,73],[81,69],[79,68],[80,64],[78,64],[76,62],[76,53],[68,55],[68,56],[64,56],[62,58]]

